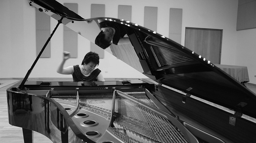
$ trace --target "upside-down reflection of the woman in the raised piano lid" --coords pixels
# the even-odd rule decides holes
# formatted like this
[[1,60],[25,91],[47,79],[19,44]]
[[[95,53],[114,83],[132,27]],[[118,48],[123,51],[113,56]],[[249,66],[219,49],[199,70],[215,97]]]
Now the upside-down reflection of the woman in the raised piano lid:
[[105,49],[111,45],[129,44],[125,28],[115,22],[99,20],[101,31],[95,39],[95,44]]

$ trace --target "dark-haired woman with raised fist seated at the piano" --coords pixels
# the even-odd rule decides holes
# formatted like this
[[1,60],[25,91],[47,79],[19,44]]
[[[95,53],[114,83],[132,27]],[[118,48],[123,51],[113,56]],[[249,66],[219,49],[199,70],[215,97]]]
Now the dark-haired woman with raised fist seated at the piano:
[[66,60],[70,58],[70,52],[63,52],[63,61],[57,69],[57,73],[72,75],[73,81],[104,81],[100,69],[95,68],[99,65],[99,55],[89,52],[84,56],[81,65],[63,67]]

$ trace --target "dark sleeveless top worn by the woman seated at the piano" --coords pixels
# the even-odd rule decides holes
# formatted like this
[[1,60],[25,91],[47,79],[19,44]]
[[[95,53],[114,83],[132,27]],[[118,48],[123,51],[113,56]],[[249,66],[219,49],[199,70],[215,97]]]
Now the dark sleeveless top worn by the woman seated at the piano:
[[72,74],[73,81],[97,81],[97,77],[100,74],[100,69],[95,69],[88,77],[84,76],[79,68],[79,65],[73,65],[74,72]]

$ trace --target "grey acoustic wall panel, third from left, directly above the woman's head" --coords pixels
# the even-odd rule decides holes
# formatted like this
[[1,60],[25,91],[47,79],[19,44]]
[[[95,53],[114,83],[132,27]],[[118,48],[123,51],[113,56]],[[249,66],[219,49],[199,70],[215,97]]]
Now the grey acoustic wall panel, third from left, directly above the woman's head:
[[[91,5],[91,18],[95,17],[105,17],[105,5],[102,4],[92,4]],[[96,38],[96,37],[95,37]],[[91,51],[99,54],[100,58],[104,58],[104,50],[99,46],[91,42]]]

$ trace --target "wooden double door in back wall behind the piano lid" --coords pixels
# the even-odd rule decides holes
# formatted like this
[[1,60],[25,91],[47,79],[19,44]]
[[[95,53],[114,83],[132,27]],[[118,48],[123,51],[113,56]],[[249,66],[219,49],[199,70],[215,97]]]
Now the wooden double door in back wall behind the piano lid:
[[185,47],[201,55],[211,63],[220,64],[221,29],[186,27]]

